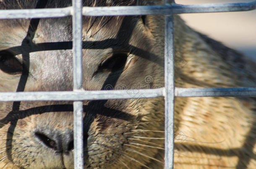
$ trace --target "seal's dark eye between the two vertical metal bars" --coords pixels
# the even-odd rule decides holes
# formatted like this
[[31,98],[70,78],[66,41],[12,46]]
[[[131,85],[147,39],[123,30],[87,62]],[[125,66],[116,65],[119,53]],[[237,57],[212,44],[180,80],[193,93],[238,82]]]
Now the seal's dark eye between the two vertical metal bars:
[[115,53],[111,58],[103,61],[97,70],[98,72],[116,72],[124,68],[127,61],[127,53]]

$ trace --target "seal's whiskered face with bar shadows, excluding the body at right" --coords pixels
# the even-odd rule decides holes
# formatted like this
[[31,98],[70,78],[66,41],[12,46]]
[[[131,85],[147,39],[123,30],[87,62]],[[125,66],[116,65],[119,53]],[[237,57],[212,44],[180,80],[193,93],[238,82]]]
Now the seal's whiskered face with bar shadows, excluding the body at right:
[[[69,5],[69,0],[0,1],[1,9]],[[85,90],[162,87],[162,44],[146,19],[83,18]],[[0,92],[71,91],[71,48],[71,17],[0,20]],[[72,102],[0,103],[0,166],[73,168],[72,111]],[[162,98],[84,101],[85,168],[139,168],[152,160],[162,164],[155,156],[162,151],[163,122]]]

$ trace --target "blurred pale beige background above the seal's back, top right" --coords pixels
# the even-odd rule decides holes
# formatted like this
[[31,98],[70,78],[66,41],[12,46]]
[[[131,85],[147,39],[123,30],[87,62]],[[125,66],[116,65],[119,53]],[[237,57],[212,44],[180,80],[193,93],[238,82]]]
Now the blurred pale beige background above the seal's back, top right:
[[[178,4],[246,3],[253,0],[175,0]],[[256,61],[256,10],[180,15],[191,28],[221,41]]]

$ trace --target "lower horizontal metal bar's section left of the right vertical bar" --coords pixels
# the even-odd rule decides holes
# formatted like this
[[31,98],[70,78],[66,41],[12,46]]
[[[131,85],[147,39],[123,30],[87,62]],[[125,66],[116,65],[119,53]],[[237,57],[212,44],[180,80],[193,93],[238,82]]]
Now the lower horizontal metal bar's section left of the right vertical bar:
[[83,101],[163,96],[163,88],[111,91],[4,92],[0,101]]

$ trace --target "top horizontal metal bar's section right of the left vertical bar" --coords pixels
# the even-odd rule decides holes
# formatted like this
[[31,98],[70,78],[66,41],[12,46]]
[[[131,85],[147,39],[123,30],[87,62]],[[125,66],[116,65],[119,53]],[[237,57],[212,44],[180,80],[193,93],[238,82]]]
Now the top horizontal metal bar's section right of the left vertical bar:
[[181,13],[217,13],[248,11],[256,9],[256,1],[251,3],[222,3],[199,5],[165,5],[165,6],[127,6],[127,7],[84,7],[83,15],[172,15]]

